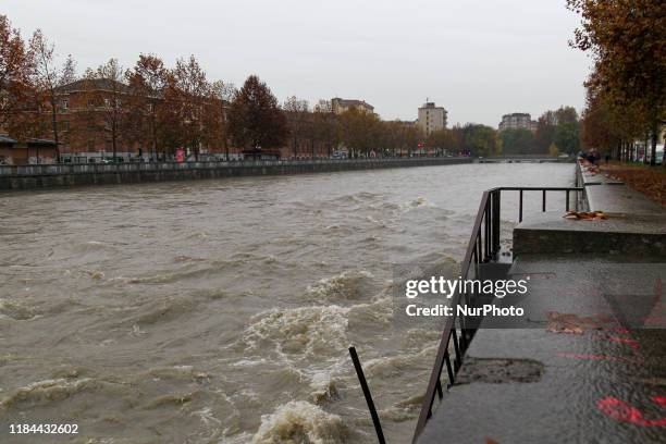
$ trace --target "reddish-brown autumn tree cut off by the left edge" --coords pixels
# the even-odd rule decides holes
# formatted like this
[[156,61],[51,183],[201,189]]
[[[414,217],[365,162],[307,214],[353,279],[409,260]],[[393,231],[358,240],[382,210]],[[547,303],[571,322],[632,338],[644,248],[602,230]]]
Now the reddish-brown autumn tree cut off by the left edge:
[[33,132],[26,104],[34,96],[32,75],[34,54],[26,47],[18,29],[5,15],[0,15],[0,131],[14,137]]

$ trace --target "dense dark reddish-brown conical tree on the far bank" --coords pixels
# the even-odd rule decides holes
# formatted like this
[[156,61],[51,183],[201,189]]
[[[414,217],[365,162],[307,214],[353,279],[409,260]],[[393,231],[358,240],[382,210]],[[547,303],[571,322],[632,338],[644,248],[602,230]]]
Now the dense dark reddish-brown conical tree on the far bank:
[[288,135],[286,118],[266,83],[250,75],[230,108],[229,131],[245,148],[280,148]]

